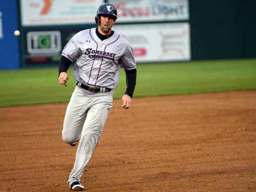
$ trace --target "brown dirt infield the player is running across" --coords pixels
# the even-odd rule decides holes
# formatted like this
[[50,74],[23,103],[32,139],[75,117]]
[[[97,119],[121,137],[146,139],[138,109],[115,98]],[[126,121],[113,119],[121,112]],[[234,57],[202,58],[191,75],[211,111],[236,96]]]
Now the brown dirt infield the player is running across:
[[[0,191],[69,191],[67,103],[0,108]],[[87,191],[256,191],[256,90],[134,98],[114,106]]]

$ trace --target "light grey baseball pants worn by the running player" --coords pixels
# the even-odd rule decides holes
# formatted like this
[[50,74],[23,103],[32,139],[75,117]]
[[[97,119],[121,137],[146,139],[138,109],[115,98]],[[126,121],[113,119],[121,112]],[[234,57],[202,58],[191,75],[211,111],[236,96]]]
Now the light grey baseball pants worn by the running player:
[[113,90],[93,93],[76,86],[68,103],[62,130],[62,139],[66,143],[75,143],[80,139],[75,164],[67,182],[69,187],[74,181],[80,181],[112,106]]

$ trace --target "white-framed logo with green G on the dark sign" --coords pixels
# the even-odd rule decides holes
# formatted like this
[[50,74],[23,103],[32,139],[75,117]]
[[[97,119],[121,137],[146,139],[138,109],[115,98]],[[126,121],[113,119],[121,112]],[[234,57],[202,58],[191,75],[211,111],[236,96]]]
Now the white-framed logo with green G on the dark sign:
[[59,53],[61,51],[60,31],[28,32],[27,50],[30,54]]

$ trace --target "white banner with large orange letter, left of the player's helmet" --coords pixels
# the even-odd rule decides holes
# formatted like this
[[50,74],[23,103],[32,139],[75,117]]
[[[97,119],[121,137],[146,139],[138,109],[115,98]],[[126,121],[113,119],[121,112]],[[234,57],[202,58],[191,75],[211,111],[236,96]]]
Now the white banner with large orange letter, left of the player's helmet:
[[21,25],[67,25],[95,23],[104,0],[20,0]]

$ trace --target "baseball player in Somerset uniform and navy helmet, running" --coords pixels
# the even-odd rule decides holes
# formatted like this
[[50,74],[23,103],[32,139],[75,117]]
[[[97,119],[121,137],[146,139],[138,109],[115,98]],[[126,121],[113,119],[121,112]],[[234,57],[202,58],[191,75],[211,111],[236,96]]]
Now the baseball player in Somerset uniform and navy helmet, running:
[[115,6],[101,4],[95,17],[98,28],[78,32],[62,51],[60,84],[67,86],[67,70],[77,59],[74,66],[77,83],[66,109],[62,130],[62,139],[66,143],[75,146],[79,142],[75,164],[67,181],[71,190],[84,189],[80,178],[111,111],[120,68],[126,72],[127,88],[122,97],[124,109],[130,107],[134,93],[136,62],[128,41],[111,30],[116,19]]

